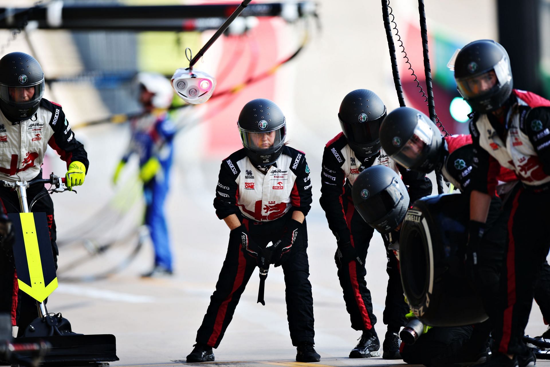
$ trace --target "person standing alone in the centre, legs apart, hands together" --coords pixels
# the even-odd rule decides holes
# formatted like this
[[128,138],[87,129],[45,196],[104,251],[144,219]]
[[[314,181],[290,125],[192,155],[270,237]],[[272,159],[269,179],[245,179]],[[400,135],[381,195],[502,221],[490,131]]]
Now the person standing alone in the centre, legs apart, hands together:
[[[290,339],[296,361],[316,362],[313,298],[305,216],[311,205],[305,154],[284,144],[286,120],[266,99],[252,100],[239,114],[243,149],[223,160],[216,187],[216,215],[230,229],[226,259],[188,362],[214,360],[246,283],[256,269],[281,266],[286,285]],[[267,244],[272,242],[270,247]]]

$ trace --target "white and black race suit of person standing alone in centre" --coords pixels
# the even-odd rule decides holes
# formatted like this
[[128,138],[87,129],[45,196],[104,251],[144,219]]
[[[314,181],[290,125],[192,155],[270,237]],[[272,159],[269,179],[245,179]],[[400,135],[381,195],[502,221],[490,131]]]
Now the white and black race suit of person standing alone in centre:
[[[310,170],[305,154],[289,146],[267,172],[255,167],[241,149],[223,160],[214,199],[216,215],[235,214],[248,229],[250,240],[260,247],[276,243],[296,210],[304,215],[311,206]],[[218,347],[256,261],[229,240],[216,291],[210,299],[197,343]],[[306,221],[288,259],[282,263],[290,338],[294,346],[313,343],[313,298],[307,260]]]

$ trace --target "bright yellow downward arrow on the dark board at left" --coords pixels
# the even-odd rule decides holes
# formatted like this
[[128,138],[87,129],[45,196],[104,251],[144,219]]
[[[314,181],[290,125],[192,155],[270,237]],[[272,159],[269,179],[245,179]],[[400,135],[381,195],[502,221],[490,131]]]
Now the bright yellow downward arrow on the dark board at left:
[[25,241],[25,252],[27,255],[27,264],[29,265],[29,275],[31,284],[26,284],[20,279],[19,289],[36,299],[43,302],[57,288],[57,277],[45,284],[42,272],[42,261],[40,260],[40,249],[38,248],[38,238],[36,236],[36,227],[33,213],[20,213],[21,228],[23,229],[23,239]]

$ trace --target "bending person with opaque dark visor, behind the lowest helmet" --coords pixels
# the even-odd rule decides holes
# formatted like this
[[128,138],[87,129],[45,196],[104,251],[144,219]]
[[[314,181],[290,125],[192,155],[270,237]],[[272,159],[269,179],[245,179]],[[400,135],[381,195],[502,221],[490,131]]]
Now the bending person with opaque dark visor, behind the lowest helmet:
[[[381,150],[378,129],[384,117],[386,106],[374,92],[366,89],[351,91],[344,97],[338,113],[342,132],[327,143],[323,152],[320,202],[338,245],[334,260],[351,327],[362,332],[359,343],[349,354],[350,358],[376,357],[380,353],[380,342],[375,331],[377,319],[365,281],[365,260],[374,229],[365,225],[365,221],[355,212],[351,187],[365,168],[381,165],[403,175],[412,201],[432,193],[432,183],[424,174],[396,165]],[[383,239],[389,281],[383,314],[388,329],[382,357],[399,359],[399,330],[406,324],[408,308],[403,302],[397,259],[388,249],[389,242]]]

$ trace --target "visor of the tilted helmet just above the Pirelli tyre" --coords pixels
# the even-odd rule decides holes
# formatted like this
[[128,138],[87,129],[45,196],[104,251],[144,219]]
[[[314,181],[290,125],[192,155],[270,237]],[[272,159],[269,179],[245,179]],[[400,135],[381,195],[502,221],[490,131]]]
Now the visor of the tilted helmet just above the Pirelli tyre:
[[[418,115],[416,127],[411,138],[401,147],[400,150],[395,152],[392,157],[394,160],[405,168],[413,168],[417,163],[423,160],[423,152],[429,149],[432,144],[432,129],[430,125]],[[394,138],[394,144],[398,143],[398,140]]]

